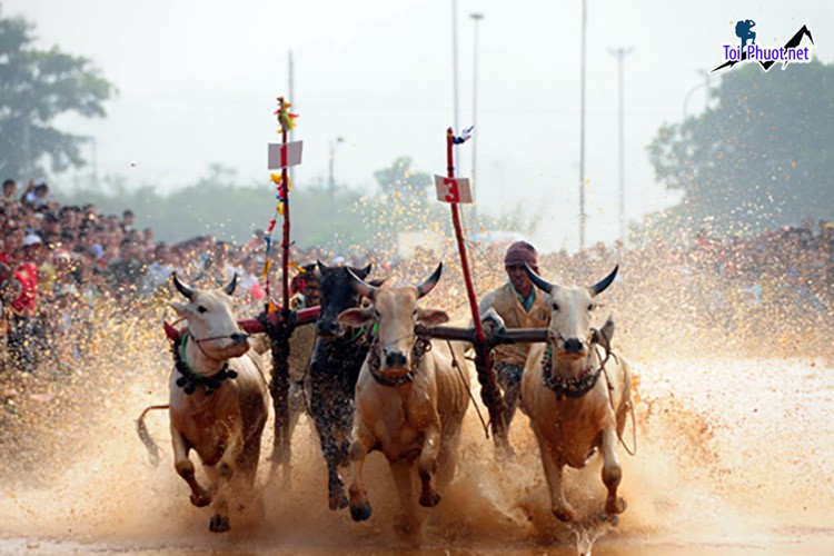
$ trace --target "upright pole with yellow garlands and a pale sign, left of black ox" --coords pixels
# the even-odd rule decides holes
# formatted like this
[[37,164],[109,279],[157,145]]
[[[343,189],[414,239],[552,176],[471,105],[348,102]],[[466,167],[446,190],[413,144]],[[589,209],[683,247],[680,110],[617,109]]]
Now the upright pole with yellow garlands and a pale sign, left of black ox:
[[[272,377],[269,383],[269,391],[272,396],[275,408],[275,439],[272,441],[272,454],[270,459],[274,465],[284,468],[284,478],[289,479],[290,445],[289,445],[289,338],[296,326],[295,315],[290,311],[289,299],[289,192],[292,183],[289,180],[288,169],[290,166],[301,163],[301,141],[287,142],[289,130],[296,127],[295,119],[298,115],[289,111],[292,105],[284,97],[278,98],[278,109],[275,115],[278,118],[280,143],[268,146],[268,168],[280,169],[280,173],[270,173],[270,180],[278,187],[276,195],[277,203],[272,219],[269,220],[266,241],[266,261],[264,264],[264,278],[266,281],[267,304],[261,325],[269,336],[272,350]],[[278,217],[282,217],[281,230],[281,294],[282,304],[278,307],[271,298],[269,287],[269,270],[272,259],[272,232],[275,231]],[[279,315],[275,315],[278,312]],[[277,317],[277,318],[276,318]]]

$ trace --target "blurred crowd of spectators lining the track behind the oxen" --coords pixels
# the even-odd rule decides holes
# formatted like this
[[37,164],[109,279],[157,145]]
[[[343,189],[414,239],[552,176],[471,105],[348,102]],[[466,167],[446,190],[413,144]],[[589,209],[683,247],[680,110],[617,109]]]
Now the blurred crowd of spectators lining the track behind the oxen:
[[[119,217],[100,215],[95,205],[61,206],[52,200],[47,183],[30,181],[19,191],[13,180],[3,182],[3,368],[34,373],[46,367],[60,373],[89,350],[96,319],[127,312],[159,317],[163,301],[175,295],[168,284],[175,270],[202,287],[222,284],[237,272],[244,310],[254,315],[264,307],[265,258],[277,258],[279,249],[266,252],[262,238],[236,245],[202,236],[168,245],[158,241],[152,229],[137,229],[135,221],[130,210]],[[471,246],[479,291],[504,279],[505,247]],[[356,266],[373,262],[375,276],[405,280],[425,278],[423,274],[444,260],[447,278],[433,295],[433,304],[447,309],[465,306],[454,247],[424,248],[407,259],[364,248],[331,257],[294,246],[291,255],[294,262],[308,265],[308,271],[316,259]],[[834,225],[830,222],[822,221],[816,229],[804,222],[745,238],[706,232],[688,242],[657,238],[625,251],[599,244],[573,255],[564,250],[545,255],[540,268],[553,281],[590,284],[616,264],[623,271],[608,296],[610,309],[625,325],[624,339],[636,347],[669,332],[758,335],[790,341],[791,334],[807,336],[796,330],[830,331],[834,321]],[[270,276],[275,295],[280,291],[280,276],[278,271]]]

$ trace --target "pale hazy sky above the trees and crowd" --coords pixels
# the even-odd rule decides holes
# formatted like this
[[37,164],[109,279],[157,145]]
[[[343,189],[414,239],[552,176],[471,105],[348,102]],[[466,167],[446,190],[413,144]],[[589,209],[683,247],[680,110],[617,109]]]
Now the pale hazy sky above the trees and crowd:
[[[646,146],[663,122],[681,120],[685,97],[704,82],[698,70],[721,63],[721,44],[736,41],[736,20],[755,20],[762,46],[782,44],[807,23],[814,58],[834,59],[830,0],[587,3],[588,242],[618,234],[617,81],[609,47],[634,48],[625,62],[629,219],[674,202],[676,196],[654,179]],[[574,249],[582,3],[457,6],[461,127],[473,119],[469,14],[485,16],[479,207],[499,211],[520,201],[540,219],[535,241]],[[328,145],[337,137],[345,138],[336,151],[340,183],[370,190],[374,171],[403,155],[420,170],[445,170],[445,129],[454,122],[450,0],[4,0],[2,13],[36,23],[40,47],[93,59],[119,88],[107,119],[59,122],[97,138],[99,175],[169,190],[222,162],[241,182],[264,183],[265,205],[271,205],[265,145],[277,140],[272,111],[275,97],[288,92],[290,49],[291,100],[301,113],[296,138],[305,141],[298,187],[327,179]],[[704,102],[702,87],[689,96],[688,113],[697,115]],[[457,149],[463,173],[471,166],[470,149]]]

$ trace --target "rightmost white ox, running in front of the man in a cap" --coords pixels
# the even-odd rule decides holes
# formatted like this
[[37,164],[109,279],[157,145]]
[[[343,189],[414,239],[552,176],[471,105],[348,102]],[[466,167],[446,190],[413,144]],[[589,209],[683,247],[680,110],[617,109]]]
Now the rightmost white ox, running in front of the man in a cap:
[[596,307],[594,298],[614,281],[617,268],[589,288],[548,284],[529,267],[527,274],[547,294],[545,302],[552,310],[548,341],[530,350],[522,378],[523,408],[542,451],[552,510],[562,520],[576,519],[563,494],[563,468],[584,467],[600,448],[603,483],[608,489],[605,514],[615,516],[626,507],[617,497],[623,477],[617,443],[632,408],[632,379],[627,363],[618,355],[608,358],[603,371],[592,345],[590,311]]

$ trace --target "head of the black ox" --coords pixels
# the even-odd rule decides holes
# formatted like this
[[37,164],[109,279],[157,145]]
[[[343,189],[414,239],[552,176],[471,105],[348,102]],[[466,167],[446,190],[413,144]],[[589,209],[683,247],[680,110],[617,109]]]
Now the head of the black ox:
[[351,286],[348,272],[364,280],[370,274],[370,265],[365,268],[328,267],[319,260],[317,267],[321,312],[316,321],[316,334],[325,338],[340,338],[345,335],[345,328],[339,324],[339,314],[361,304],[361,295]]

